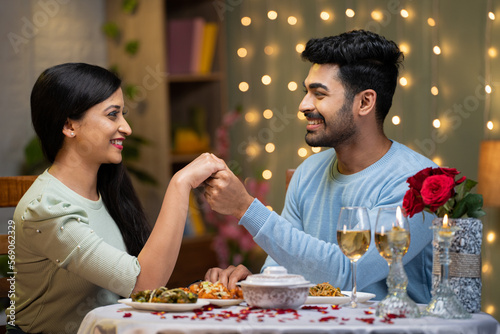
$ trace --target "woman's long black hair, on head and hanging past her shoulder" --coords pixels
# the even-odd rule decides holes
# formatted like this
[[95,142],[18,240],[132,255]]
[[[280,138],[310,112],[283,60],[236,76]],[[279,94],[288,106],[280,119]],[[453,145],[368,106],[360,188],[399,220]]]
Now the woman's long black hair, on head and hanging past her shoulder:
[[[50,163],[63,145],[66,120],[81,119],[120,85],[121,80],[110,71],[84,63],[57,65],[40,75],[31,92],[31,119]],[[151,228],[125,166],[102,164],[97,174],[97,191],[118,225],[127,251],[139,255]]]

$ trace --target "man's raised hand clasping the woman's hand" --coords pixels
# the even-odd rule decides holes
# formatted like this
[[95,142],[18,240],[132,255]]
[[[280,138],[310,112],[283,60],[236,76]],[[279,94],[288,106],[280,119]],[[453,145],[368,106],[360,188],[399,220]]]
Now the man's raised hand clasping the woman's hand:
[[243,183],[226,166],[205,182],[205,198],[212,210],[241,219],[254,198]]

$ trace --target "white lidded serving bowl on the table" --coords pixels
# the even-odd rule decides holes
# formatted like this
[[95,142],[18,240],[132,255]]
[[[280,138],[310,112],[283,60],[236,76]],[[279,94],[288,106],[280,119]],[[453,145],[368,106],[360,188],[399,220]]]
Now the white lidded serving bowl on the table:
[[288,274],[286,268],[271,266],[262,274],[249,275],[238,283],[249,306],[296,309],[302,306],[313,286],[301,275]]

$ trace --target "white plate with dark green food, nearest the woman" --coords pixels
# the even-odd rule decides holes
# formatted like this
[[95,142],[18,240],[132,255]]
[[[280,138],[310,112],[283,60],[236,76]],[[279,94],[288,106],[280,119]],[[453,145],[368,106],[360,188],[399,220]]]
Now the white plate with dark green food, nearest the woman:
[[192,292],[166,287],[139,291],[130,297],[120,299],[118,302],[139,310],[168,312],[192,311],[209,304],[208,301],[200,300],[198,295]]

